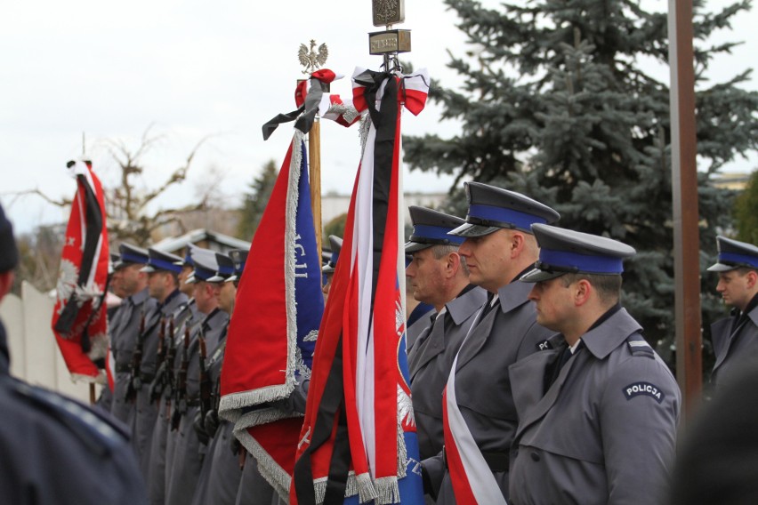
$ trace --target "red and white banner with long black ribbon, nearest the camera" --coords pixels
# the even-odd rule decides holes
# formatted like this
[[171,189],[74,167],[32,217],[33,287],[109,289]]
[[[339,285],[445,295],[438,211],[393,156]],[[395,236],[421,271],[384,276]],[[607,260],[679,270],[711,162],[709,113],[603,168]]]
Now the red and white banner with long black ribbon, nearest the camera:
[[[405,346],[400,110],[417,114],[425,73],[357,71],[368,111],[340,261],[319,329],[290,501],[423,503]],[[356,496],[357,495],[357,496]]]

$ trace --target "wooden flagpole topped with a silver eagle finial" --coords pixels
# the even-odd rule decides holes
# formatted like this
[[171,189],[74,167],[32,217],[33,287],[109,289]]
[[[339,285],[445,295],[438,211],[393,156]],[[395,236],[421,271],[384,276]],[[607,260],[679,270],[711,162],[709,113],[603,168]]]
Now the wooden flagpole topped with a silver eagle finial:
[[[316,51],[315,39],[310,39],[310,50],[305,44],[300,44],[298,57],[303,67],[302,73],[310,76],[327,62],[327,56],[327,44],[321,44],[318,52]],[[321,261],[323,229],[321,223],[321,122],[318,112],[313,120],[310,132],[308,132],[308,163],[310,210],[313,213],[313,229],[316,231],[316,251],[319,253],[319,261]]]

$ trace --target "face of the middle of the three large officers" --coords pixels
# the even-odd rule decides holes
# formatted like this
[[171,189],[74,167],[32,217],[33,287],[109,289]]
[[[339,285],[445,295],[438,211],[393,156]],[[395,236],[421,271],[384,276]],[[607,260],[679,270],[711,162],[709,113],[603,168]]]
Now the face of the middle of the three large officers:
[[469,281],[490,293],[508,284],[508,262],[511,241],[508,230],[498,229],[484,236],[470,236],[458,247],[458,253],[469,268]]

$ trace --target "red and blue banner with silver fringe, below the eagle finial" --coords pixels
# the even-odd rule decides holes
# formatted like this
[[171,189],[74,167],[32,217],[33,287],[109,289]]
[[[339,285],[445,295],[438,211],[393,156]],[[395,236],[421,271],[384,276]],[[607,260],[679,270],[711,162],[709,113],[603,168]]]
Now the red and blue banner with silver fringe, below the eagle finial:
[[222,366],[220,413],[235,422],[261,474],[285,496],[302,418],[261,425],[297,415],[268,404],[310,377],[324,310],[306,153],[295,131],[250,246]]

